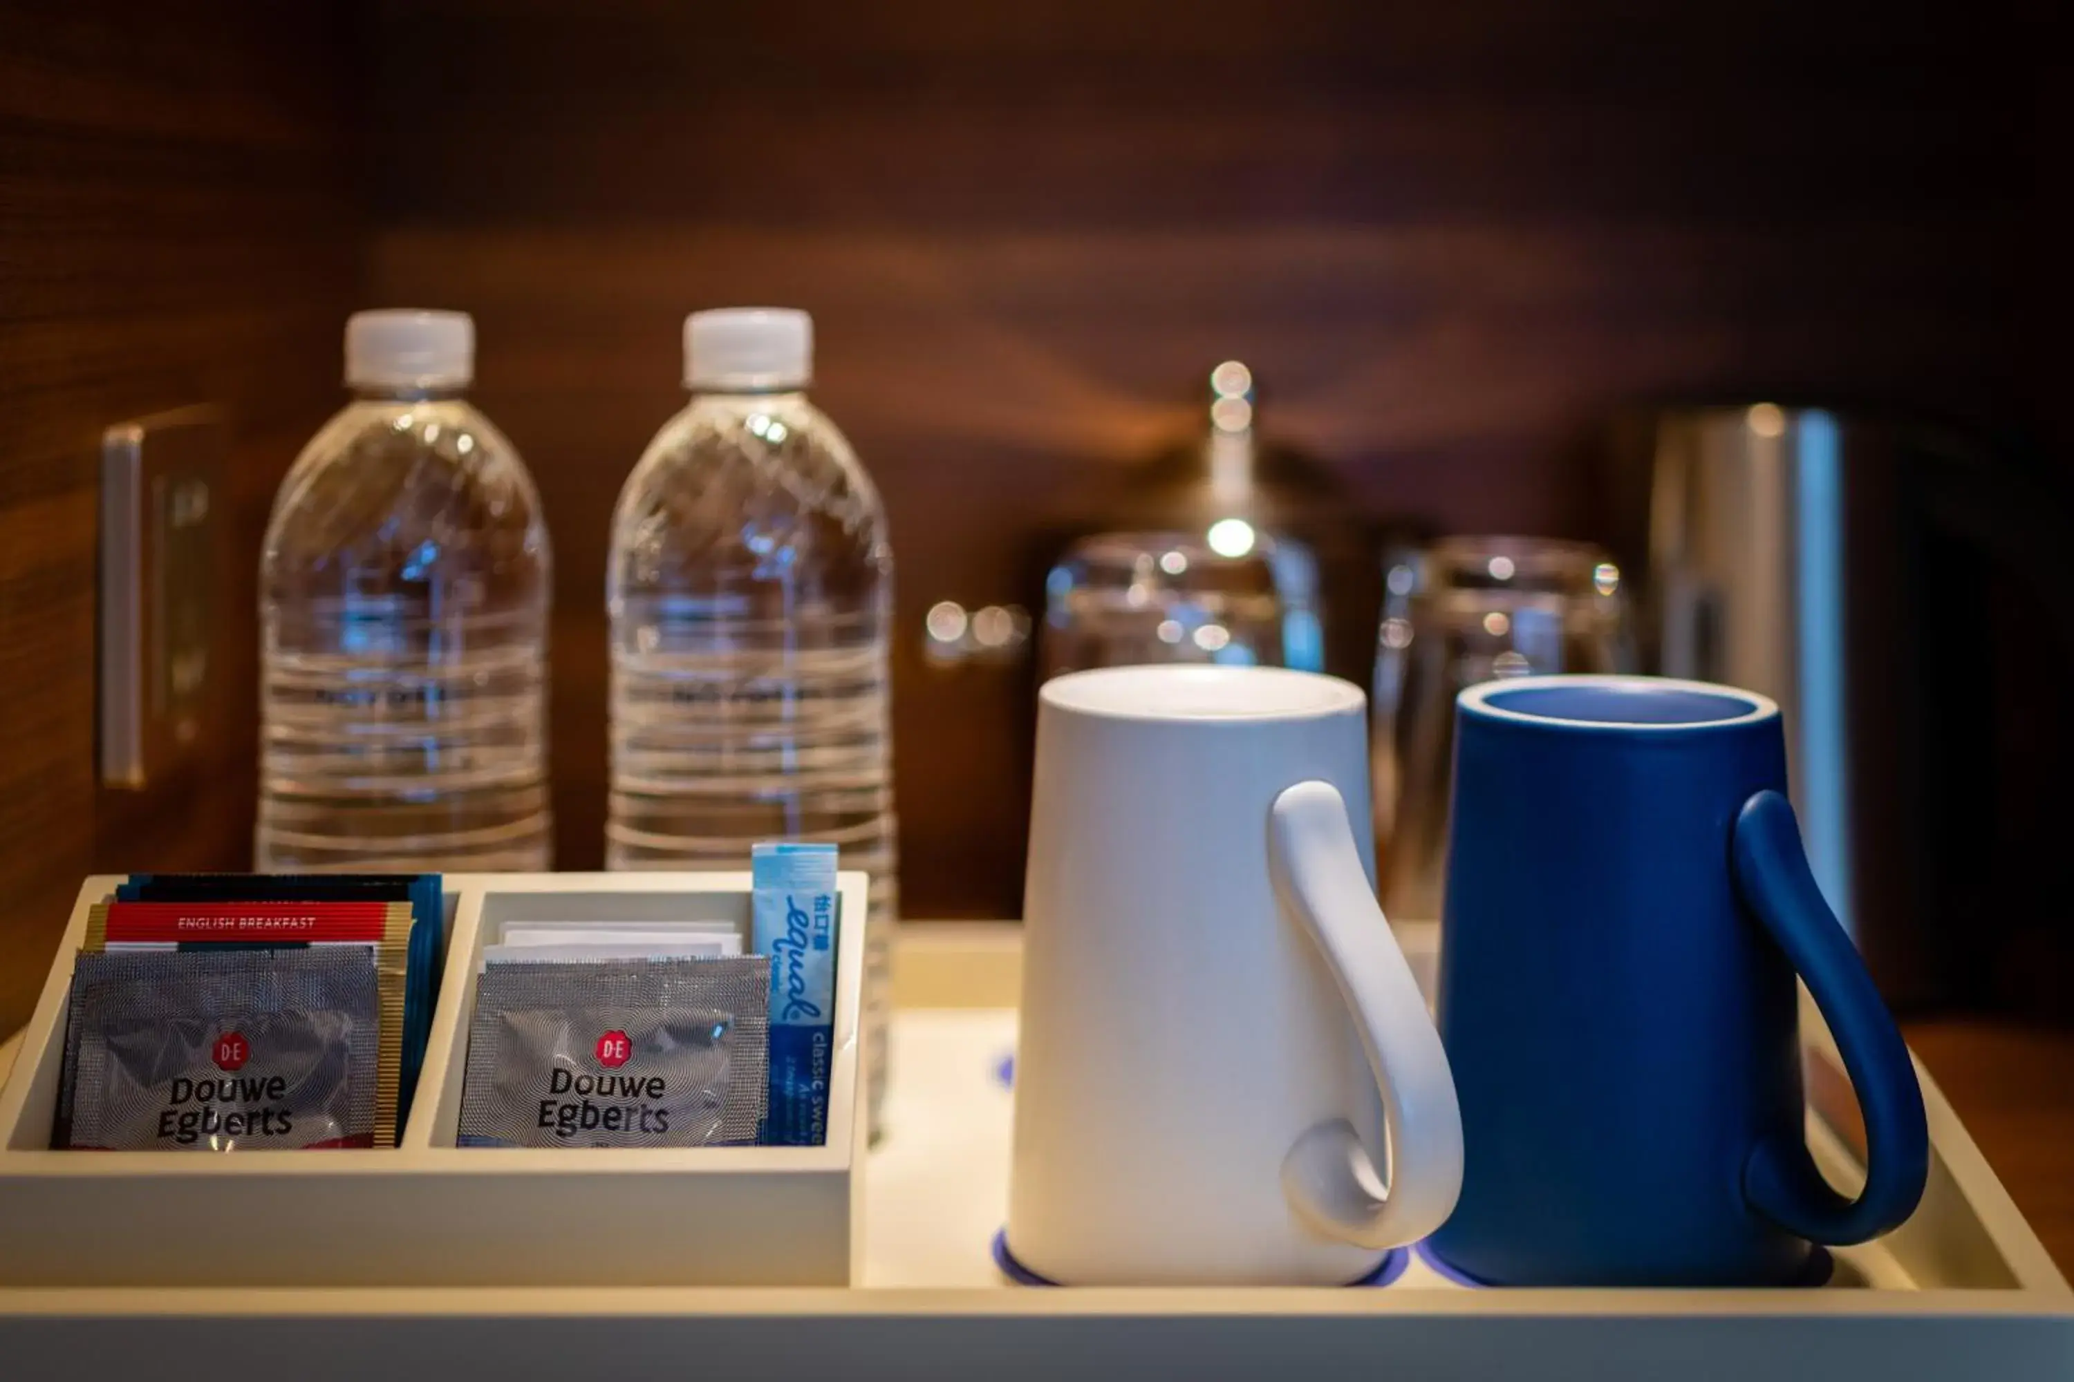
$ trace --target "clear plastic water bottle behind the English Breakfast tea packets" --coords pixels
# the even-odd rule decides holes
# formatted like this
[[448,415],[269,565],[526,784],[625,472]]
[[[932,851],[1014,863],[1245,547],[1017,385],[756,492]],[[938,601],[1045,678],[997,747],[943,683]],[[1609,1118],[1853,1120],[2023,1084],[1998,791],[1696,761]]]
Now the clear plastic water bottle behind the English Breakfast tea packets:
[[548,528],[465,313],[346,323],[259,568],[261,870],[545,870]]

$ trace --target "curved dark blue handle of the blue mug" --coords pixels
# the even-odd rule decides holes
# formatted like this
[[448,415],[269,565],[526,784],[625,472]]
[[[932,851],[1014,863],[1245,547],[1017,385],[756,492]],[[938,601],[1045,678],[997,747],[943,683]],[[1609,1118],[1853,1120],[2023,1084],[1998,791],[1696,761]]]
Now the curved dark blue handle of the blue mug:
[[1865,1117],[1865,1189],[1856,1200],[1823,1181],[1798,1127],[1750,1150],[1742,1193],[1788,1233],[1840,1247],[1862,1243],[1900,1227],[1923,1200],[1931,1133],[1916,1069],[1873,976],[1815,885],[1800,823],[1784,796],[1759,791],[1742,804],[1734,860],[1742,901],[1815,995]]

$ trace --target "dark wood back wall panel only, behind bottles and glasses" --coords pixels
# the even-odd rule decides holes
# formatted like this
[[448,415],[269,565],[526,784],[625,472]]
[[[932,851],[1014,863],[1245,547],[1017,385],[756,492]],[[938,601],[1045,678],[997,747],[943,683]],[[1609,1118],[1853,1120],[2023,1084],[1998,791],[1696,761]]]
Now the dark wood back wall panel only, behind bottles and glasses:
[[[1039,597],[1207,367],[1375,516],[1591,535],[1599,421],[1771,394],[2043,412],[2028,10],[1145,0],[380,4],[371,290],[481,325],[558,549],[560,860],[599,858],[606,528],[678,321],[809,307],[892,510],[904,901],[1020,903]],[[465,54],[465,60],[460,58]]]

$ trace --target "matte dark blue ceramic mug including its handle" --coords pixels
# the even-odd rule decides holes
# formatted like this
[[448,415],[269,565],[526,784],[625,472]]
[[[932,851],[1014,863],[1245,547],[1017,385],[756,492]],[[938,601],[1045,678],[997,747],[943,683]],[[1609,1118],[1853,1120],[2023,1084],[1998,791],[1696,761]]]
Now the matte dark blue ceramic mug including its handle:
[[[1439,1032],[1464,1173],[1433,1254],[1500,1285],[1786,1285],[1923,1198],[1908,1048],[1815,887],[1779,709],[1657,678],[1462,692]],[[1858,1092],[1865,1189],[1804,1144],[1794,976]]]

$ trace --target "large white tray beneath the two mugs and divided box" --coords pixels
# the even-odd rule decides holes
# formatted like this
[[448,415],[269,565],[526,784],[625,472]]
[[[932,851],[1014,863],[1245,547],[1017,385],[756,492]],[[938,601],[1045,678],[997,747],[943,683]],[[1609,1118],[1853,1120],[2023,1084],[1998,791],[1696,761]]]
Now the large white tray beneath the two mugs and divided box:
[[[1433,932],[1404,926],[1414,963]],[[852,1289],[0,1289],[0,1359],[68,1376],[220,1376],[220,1341],[303,1378],[1039,1376],[2053,1378],[2074,1293],[1925,1075],[1923,1208],[1821,1291],[1029,1289],[991,1264],[1006,1208],[1020,951],[1012,926],[917,926],[896,955],[888,1138]],[[1848,1096],[1819,1030],[1809,1131],[1848,1183]],[[1825,1113],[1827,1111],[1827,1113]],[[1831,1123],[1829,1119],[1835,1119]],[[1840,1131],[1842,1127],[1842,1131]],[[232,1330],[232,1334],[226,1334]],[[12,1376],[12,1374],[8,1374]]]

